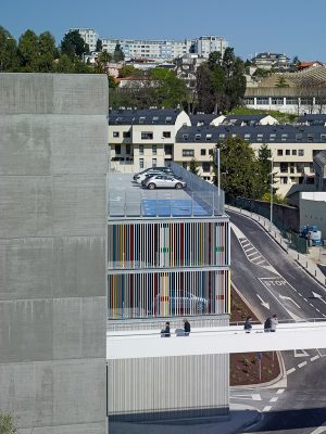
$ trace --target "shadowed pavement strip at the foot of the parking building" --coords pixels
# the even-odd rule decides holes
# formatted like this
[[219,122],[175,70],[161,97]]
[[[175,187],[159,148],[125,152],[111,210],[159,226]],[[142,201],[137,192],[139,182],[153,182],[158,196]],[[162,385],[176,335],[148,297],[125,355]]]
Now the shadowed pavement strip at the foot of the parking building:
[[158,423],[109,422],[109,434],[236,434],[262,419],[261,412],[250,406],[231,404],[229,418],[205,418],[193,424],[191,419]]

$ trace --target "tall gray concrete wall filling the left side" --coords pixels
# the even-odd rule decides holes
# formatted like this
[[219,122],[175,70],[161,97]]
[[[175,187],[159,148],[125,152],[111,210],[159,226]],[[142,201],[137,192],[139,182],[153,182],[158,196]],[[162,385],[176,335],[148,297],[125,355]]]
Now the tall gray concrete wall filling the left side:
[[105,433],[108,80],[0,74],[0,412]]

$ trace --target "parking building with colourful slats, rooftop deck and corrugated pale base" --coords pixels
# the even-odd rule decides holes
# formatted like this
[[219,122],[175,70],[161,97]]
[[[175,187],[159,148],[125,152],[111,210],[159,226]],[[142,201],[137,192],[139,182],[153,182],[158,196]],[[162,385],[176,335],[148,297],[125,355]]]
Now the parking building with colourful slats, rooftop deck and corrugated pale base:
[[[224,194],[180,166],[172,168],[187,191],[147,191],[129,174],[109,174],[109,331],[151,332],[168,321],[175,333],[185,316],[191,327],[228,326]],[[109,425],[228,414],[228,355],[139,356],[110,360]]]

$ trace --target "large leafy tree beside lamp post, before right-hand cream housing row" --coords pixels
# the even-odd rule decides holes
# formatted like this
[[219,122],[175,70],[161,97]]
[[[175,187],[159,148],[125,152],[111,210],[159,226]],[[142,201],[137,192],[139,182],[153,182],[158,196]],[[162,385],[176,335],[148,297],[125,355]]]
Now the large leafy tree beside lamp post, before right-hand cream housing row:
[[[241,137],[228,137],[217,143],[220,148],[221,188],[228,196],[258,197],[260,165],[254,151]],[[215,181],[216,167],[215,170]]]

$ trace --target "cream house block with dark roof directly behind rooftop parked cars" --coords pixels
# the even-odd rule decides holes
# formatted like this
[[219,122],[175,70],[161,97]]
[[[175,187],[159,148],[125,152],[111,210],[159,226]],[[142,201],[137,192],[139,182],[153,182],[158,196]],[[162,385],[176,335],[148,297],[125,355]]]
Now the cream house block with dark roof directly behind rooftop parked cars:
[[190,126],[183,110],[118,110],[109,113],[111,170],[135,173],[173,161],[176,132]]

